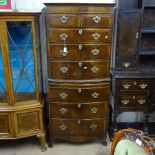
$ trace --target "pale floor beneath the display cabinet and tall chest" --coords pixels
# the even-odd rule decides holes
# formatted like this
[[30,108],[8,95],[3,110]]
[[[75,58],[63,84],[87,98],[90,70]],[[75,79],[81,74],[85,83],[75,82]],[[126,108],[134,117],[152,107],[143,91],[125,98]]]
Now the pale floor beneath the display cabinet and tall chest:
[[1,140],[0,155],[109,155],[111,143],[103,146],[100,143],[71,144],[56,142],[46,152],[41,152],[37,138],[21,140]]

